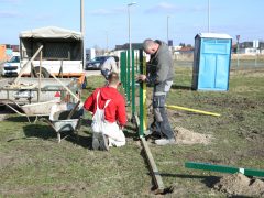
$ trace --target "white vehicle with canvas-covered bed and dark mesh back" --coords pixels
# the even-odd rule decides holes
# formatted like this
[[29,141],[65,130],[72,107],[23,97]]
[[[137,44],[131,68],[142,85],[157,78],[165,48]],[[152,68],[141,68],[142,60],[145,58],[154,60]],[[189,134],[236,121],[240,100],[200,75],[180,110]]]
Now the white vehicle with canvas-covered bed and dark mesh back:
[[42,75],[48,78],[54,74],[59,77],[76,77],[80,84],[86,82],[84,36],[80,32],[46,26],[23,31],[19,38],[21,67],[43,46],[42,54],[34,58],[31,67],[23,70],[23,76]]

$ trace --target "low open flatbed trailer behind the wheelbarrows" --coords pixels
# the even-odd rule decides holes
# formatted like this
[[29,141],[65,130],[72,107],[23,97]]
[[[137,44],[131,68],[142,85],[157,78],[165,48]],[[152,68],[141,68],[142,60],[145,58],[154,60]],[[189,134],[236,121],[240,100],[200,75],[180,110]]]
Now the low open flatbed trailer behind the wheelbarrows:
[[14,78],[0,79],[0,105],[15,101],[18,105],[23,106],[55,99],[76,101],[68,90],[76,96],[80,96],[81,91],[76,78],[59,78],[61,82],[54,78],[41,78],[40,84],[38,78],[22,77],[19,84],[13,84],[13,81]]

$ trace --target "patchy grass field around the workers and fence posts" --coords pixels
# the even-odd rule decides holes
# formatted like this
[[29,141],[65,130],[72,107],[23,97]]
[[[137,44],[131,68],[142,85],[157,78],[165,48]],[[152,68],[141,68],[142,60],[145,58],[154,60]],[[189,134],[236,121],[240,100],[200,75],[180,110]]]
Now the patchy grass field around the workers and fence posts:
[[[187,169],[184,163],[264,169],[264,69],[232,70],[227,92],[193,91],[190,84],[191,68],[177,67],[167,103],[221,117],[168,110],[174,129],[180,127],[212,139],[209,144],[166,146],[148,141],[165,187],[174,188],[164,196],[227,197],[212,188],[224,174]],[[103,85],[102,77],[89,77],[84,99],[98,85]],[[89,113],[85,118],[79,140],[69,136],[58,144],[46,123],[31,124],[16,114],[4,117],[0,128],[0,197],[155,197],[134,127],[129,123],[124,130],[124,147],[92,151]]]

